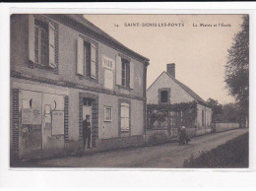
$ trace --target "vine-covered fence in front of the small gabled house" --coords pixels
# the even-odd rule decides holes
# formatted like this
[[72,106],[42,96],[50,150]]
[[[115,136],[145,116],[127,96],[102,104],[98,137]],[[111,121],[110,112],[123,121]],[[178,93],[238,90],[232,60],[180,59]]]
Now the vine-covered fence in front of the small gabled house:
[[[178,128],[187,127],[189,136],[196,135],[196,107],[193,103],[150,105],[147,109],[146,142],[163,143],[178,136]],[[179,109],[178,109],[179,107]],[[175,109],[175,110],[174,110]]]

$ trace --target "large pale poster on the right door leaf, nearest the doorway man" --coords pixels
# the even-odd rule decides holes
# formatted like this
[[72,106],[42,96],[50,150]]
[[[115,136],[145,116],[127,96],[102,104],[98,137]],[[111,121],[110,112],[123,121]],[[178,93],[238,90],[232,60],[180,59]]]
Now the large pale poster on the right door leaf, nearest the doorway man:
[[53,110],[52,111],[52,135],[64,134],[64,111]]

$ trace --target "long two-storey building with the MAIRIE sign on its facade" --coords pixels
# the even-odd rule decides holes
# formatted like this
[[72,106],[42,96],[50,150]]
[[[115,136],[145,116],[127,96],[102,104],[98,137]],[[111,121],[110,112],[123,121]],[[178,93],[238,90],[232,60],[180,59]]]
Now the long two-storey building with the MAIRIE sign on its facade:
[[142,145],[149,59],[82,15],[11,16],[11,158]]

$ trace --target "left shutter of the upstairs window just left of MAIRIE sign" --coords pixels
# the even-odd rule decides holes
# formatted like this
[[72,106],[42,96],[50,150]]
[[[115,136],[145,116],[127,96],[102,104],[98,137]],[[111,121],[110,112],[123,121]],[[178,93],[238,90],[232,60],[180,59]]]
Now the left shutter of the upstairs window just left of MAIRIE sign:
[[85,75],[84,71],[84,39],[78,37],[77,44],[77,73],[80,75]]

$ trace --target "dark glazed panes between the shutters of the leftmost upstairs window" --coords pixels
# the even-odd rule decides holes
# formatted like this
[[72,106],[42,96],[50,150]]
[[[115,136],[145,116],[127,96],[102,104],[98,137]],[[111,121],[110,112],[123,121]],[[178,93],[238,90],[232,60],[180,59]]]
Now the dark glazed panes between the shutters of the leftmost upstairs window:
[[48,26],[38,20],[34,21],[34,63],[46,66],[48,62]]

